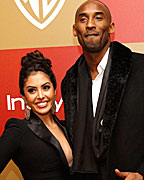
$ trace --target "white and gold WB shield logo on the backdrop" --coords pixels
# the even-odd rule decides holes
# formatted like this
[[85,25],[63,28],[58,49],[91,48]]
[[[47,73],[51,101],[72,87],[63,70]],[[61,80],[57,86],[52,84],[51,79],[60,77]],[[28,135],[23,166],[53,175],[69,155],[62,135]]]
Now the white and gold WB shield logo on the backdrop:
[[62,9],[65,0],[14,0],[23,15],[37,28],[44,29]]

